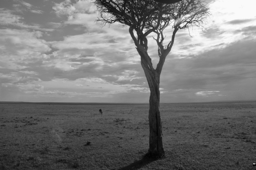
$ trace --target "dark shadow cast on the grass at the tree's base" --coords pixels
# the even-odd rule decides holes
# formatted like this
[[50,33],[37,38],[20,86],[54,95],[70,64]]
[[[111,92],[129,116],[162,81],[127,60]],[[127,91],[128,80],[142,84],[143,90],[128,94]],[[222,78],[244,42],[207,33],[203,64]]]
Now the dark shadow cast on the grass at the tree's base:
[[143,157],[142,159],[131,163],[130,165],[119,168],[118,170],[136,170],[143,166],[158,160],[157,158]]

